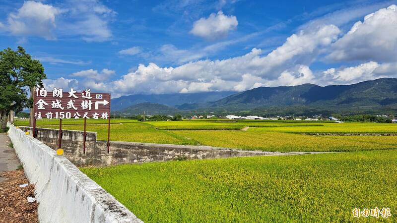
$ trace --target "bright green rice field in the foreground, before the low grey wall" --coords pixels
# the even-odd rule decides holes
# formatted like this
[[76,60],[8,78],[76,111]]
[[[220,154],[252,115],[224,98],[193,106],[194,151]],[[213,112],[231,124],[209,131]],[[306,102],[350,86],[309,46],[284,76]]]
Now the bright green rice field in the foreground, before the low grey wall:
[[352,222],[355,207],[397,210],[396,150],[81,170],[145,222]]

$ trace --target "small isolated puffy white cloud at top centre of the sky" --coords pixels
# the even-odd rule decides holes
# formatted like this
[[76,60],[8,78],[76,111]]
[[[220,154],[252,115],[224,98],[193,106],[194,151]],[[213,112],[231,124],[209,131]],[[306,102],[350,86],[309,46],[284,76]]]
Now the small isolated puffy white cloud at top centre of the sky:
[[229,31],[237,28],[238,21],[234,15],[224,15],[222,11],[211,13],[208,18],[200,18],[193,24],[190,31],[193,35],[208,40],[224,38]]

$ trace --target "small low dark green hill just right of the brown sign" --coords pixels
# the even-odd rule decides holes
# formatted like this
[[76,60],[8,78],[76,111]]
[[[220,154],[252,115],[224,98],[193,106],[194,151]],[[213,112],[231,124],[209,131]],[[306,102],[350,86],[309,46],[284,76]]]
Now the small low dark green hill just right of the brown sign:
[[142,114],[143,111],[145,111],[146,114],[151,114],[151,115],[153,114],[174,115],[179,112],[179,110],[168,107],[166,105],[145,102],[145,103],[132,105],[128,108],[117,111],[117,113],[128,116],[134,114]]

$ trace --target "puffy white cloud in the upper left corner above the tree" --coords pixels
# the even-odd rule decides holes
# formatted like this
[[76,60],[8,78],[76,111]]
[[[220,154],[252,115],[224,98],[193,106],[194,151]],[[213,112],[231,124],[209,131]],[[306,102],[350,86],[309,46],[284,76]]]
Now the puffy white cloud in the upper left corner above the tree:
[[56,16],[59,8],[36,1],[25,1],[16,13],[8,15],[6,29],[15,36],[39,36],[47,40],[56,38]]

